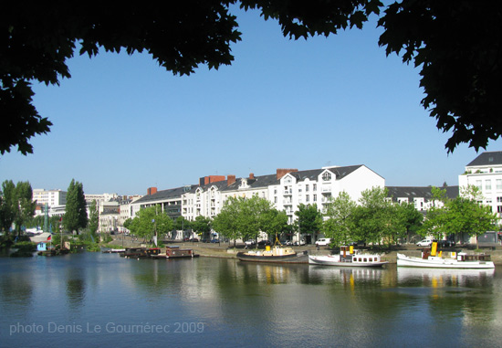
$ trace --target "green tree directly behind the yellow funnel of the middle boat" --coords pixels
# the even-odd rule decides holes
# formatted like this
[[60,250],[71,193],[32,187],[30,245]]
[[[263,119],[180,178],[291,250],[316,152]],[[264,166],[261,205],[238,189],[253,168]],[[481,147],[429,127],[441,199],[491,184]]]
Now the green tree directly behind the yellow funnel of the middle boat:
[[322,223],[321,231],[324,236],[332,238],[336,246],[347,245],[352,240],[354,230],[353,212],[357,204],[351,200],[345,191],[340,192],[337,198],[331,200],[326,206],[327,217]]

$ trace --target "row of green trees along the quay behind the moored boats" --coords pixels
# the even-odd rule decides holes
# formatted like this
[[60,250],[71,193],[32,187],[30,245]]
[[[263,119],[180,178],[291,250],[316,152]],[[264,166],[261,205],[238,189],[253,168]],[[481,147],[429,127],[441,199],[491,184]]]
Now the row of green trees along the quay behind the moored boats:
[[[265,198],[231,197],[211,226],[231,239],[256,238],[260,232],[269,237],[298,232],[317,239],[320,232],[333,240],[333,245],[347,245],[364,241],[389,247],[410,242],[415,236],[478,236],[497,227],[497,216],[489,206],[478,202],[481,194],[469,186],[455,199],[448,199],[445,190],[432,188],[435,204],[424,218],[413,204],[393,203],[388,191],[373,187],[361,193],[359,202],[350,199],[346,192],[331,200],[321,213],[316,205],[299,205],[294,225],[288,225],[288,216],[277,211]],[[359,204],[358,204],[359,203]]]

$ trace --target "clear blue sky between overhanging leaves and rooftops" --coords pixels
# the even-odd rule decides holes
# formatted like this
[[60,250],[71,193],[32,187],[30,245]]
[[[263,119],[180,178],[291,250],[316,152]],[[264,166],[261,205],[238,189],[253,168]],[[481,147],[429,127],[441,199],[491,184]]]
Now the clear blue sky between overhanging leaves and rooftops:
[[[87,194],[144,195],[205,175],[274,174],[364,164],[390,186],[458,185],[476,158],[420,105],[419,70],[378,47],[376,18],[362,30],[289,40],[276,21],[235,11],[235,61],[173,76],[147,54],[78,56],[71,79],[35,85],[53,122],[34,153],[0,157],[0,180]],[[502,150],[491,142],[486,151]],[[484,151],[481,150],[480,153]]]

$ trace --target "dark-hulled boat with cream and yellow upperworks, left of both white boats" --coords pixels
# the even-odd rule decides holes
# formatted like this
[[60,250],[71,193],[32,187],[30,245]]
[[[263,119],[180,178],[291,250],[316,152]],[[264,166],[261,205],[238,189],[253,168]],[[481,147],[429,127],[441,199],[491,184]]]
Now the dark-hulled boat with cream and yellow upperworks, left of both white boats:
[[236,257],[241,261],[251,262],[275,262],[275,263],[308,263],[307,251],[297,253],[293,248],[274,246],[265,250],[249,250],[238,252]]

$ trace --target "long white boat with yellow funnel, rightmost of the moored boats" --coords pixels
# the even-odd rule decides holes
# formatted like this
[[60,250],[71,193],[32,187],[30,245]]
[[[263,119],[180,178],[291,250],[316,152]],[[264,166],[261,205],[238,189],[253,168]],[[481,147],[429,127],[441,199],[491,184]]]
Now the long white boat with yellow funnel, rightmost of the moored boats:
[[421,267],[433,269],[495,269],[495,264],[486,254],[448,253],[443,256],[431,256],[422,253],[422,258],[397,254],[398,267]]

